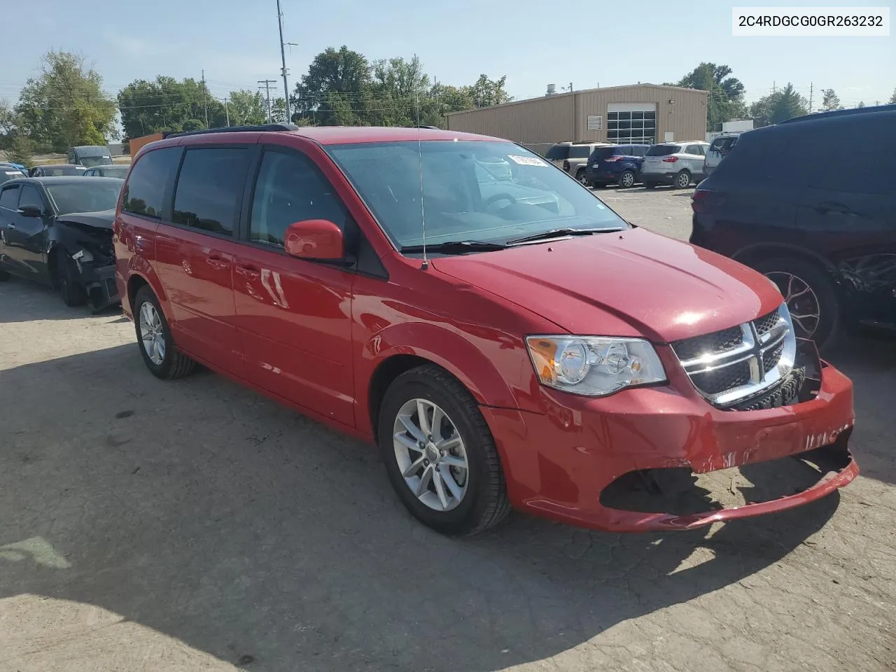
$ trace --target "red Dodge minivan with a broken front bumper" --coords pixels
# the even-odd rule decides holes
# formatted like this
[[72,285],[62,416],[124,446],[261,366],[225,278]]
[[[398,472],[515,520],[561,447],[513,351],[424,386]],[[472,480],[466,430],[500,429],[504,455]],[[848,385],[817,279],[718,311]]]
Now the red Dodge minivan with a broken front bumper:
[[[135,157],[115,246],[154,375],[200,362],[375,441],[435,530],[486,530],[512,507],[688,529],[805,504],[858,473],[852,385],[795,338],[769,280],[633,226],[513,142],[171,135]],[[697,478],[770,461],[785,473],[779,458],[817,478],[681,504]]]

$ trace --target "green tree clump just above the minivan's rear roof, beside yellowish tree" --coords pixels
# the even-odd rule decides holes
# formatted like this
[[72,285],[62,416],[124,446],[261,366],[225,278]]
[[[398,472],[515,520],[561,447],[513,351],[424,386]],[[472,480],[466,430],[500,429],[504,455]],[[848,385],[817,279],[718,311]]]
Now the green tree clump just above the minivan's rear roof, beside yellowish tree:
[[164,75],[151,82],[135,80],[118,92],[118,108],[125,138],[202,129],[206,115],[210,128],[227,125],[224,105],[204,82],[190,77],[180,82]]

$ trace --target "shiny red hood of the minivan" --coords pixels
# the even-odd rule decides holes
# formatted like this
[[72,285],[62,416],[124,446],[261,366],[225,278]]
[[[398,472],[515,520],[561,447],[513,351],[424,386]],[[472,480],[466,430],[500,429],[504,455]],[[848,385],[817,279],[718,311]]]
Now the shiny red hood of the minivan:
[[748,322],[783,302],[756,271],[643,228],[432,263],[583,335],[669,342]]

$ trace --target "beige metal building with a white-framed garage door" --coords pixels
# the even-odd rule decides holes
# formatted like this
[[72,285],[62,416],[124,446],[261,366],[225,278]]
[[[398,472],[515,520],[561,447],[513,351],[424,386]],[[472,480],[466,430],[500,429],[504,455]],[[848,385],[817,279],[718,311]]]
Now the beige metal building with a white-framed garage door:
[[[550,91],[552,87],[548,87]],[[548,93],[452,112],[446,127],[520,142],[544,153],[554,142],[670,142],[706,136],[707,92],[634,84]]]

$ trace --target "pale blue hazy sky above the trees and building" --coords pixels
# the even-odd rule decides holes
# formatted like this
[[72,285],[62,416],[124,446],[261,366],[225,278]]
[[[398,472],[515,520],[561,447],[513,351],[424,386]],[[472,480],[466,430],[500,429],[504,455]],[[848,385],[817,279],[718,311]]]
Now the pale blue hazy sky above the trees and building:
[[[735,38],[731,7],[718,0],[558,3],[556,0],[281,0],[290,90],[314,56],[347,45],[369,59],[417,54],[439,82],[507,76],[514,99],[547,84],[597,86],[676,82],[701,61],[725,64],[747,102],[792,82],[814,108],[832,88],[847,107],[873,105],[896,88],[896,37]],[[735,3],[737,6],[746,4]],[[762,5],[774,4],[765,0]],[[784,6],[822,5],[790,0]],[[828,3],[831,5],[831,3]],[[833,5],[844,6],[840,0]],[[878,4],[866,0],[861,6]],[[892,4],[892,3],[891,3]],[[200,78],[211,92],[256,89],[280,79],[276,0],[152,0],[4,3],[0,99],[13,102],[49,49],[75,51],[115,95],[135,79]],[[856,4],[854,6],[858,6]],[[891,13],[896,15],[892,11]],[[15,27],[21,27],[16,30]],[[12,29],[12,30],[10,30]]]

